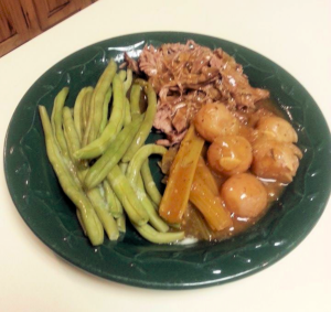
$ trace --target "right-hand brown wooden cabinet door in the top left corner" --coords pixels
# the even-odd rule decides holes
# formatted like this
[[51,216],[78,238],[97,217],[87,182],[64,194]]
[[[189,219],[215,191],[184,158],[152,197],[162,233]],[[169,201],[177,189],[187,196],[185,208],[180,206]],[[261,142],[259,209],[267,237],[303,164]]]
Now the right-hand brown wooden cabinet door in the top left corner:
[[44,31],[96,0],[33,0],[39,23]]

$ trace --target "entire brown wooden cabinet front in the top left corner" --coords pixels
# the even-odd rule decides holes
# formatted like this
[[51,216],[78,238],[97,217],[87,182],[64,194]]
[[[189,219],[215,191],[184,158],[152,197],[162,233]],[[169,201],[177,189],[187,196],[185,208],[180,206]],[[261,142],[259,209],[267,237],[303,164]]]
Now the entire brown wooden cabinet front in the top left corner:
[[0,0],[0,57],[96,0]]

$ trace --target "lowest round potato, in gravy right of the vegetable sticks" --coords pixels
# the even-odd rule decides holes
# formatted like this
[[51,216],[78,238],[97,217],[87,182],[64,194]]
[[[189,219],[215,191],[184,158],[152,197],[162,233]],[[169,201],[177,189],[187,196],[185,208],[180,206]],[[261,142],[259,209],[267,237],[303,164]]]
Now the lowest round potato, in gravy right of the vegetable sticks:
[[228,211],[239,217],[256,217],[267,207],[267,192],[260,181],[249,173],[231,176],[221,189]]

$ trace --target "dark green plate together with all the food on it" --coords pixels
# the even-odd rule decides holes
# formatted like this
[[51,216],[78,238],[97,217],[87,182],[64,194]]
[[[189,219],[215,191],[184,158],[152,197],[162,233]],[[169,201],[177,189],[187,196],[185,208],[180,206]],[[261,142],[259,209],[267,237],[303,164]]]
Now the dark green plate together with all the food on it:
[[192,33],[87,46],[26,92],[4,172],[33,233],[139,287],[218,284],[290,252],[330,193],[330,132],[270,60]]

